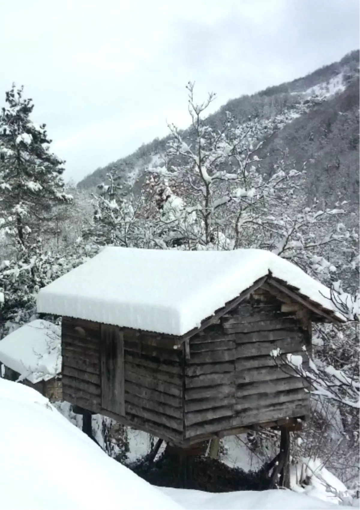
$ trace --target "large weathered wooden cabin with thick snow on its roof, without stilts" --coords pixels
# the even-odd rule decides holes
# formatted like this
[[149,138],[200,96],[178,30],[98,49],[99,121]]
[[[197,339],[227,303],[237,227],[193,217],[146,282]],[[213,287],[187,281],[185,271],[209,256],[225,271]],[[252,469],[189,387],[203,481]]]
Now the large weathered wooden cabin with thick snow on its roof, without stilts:
[[62,316],[65,400],[182,448],[304,420],[306,383],[279,365],[307,363],[312,322],[343,322],[328,289],[263,250],[107,247],[37,307]]

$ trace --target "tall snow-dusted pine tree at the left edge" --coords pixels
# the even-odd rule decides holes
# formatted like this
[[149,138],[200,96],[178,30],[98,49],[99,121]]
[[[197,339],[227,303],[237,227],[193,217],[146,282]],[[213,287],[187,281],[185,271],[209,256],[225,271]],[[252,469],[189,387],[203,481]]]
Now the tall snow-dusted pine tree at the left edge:
[[13,85],[0,114],[0,217],[20,252],[46,230],[53,203],[71,200],[64,192],[64,161],[50,152],[45,124],[30,120],[33,109],[23,87]]

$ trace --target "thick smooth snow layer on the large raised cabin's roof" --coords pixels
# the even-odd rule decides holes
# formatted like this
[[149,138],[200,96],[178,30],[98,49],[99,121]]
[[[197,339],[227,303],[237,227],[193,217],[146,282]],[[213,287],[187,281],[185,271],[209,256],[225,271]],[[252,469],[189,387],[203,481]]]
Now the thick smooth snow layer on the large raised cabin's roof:
[[332,310],[329,290],[265,250],[107,247],[40,290],[38,312],[183,335],[271,271]]

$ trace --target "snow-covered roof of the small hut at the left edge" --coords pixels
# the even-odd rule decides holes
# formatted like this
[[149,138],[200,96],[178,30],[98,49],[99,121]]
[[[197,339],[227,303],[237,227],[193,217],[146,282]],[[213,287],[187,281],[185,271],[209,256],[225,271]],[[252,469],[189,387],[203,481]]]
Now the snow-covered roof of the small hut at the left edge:
[[0,362],[35,384],[61,371],[60,327],[34,320],[0,341]]

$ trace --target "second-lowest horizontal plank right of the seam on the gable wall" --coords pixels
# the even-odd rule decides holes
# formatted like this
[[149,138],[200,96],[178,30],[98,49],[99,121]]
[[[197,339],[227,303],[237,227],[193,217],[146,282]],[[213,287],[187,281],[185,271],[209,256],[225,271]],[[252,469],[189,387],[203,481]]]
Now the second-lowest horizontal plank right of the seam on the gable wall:
[[270,404],[292,402],[297,400],[309,400],[310,393],[304,388],[291,391],[281,391],[275,393],[256,393],[255,395],[247,395],[243,398],[237,398],[234,404],[234,411],[241,412],[245,409],[262,409]]

